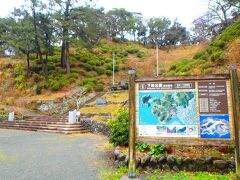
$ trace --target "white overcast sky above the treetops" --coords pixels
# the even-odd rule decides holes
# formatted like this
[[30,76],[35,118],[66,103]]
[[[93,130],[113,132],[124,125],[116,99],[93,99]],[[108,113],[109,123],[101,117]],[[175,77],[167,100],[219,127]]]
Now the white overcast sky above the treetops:
[[[94,0],[98,7],[106,10],[125,8],[131,12],[141,12],[144,17],[165,16],[178,19],[183,26],[190,28],[194,19],[207,11],[208,0]],[[0,0],[0,16],[7,16],[14,7],[24,0]]]

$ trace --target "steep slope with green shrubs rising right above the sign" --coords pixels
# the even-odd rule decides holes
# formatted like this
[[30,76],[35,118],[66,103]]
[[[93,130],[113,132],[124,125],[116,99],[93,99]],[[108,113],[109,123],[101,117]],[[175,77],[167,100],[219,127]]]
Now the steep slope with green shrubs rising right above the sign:
[[240,20],[226,28],[192,59],[174,63],[166,75],[225,73],[228,65],[240,65]]

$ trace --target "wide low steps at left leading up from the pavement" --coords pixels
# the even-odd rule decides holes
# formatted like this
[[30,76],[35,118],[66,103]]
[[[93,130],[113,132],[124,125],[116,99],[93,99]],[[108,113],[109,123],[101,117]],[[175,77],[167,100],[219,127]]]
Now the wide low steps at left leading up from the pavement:
[[1,121],[0,129],[19,129],[61,134],[77,134],[89,132],[79,122],[68,123],[68,117],[29,116],[24,120],[13,122]]

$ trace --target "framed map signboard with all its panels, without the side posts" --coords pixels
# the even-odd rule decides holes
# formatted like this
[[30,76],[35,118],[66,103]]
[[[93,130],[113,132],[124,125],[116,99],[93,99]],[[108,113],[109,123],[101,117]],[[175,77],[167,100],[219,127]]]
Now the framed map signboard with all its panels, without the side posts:
[[136,80],[137,136],[232,141],[229,79]]

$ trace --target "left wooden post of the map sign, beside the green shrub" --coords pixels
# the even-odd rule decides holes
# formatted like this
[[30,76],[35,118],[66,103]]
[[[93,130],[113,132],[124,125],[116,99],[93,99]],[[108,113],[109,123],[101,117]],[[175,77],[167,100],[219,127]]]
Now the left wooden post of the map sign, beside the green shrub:
[[136,177],[136,153],[135,153],[135,139],[136,139],[136,104],[135,104],[135,75],[134,70],[129,70],[129,171],[128,177]]

